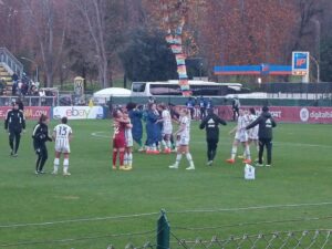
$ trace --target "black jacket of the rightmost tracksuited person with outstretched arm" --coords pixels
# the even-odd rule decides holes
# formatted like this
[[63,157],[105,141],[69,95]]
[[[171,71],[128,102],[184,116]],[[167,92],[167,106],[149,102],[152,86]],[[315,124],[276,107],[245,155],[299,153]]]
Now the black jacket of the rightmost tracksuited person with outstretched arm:
[[276,121],[272,118],[271,114],[269,112],[262,112],[261,115],[253,121],[251,124],[249,124],[246,129],[252,128],[256,125],[259,125],[258,128],[258,137],[259,138],[266,138],[266,139],[272,139],[272,128],[277,126]]

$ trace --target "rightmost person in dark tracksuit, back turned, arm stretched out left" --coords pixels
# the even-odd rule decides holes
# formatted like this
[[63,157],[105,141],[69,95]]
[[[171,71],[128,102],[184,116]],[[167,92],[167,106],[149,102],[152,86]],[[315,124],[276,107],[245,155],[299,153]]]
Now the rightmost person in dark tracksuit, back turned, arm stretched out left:
[[271,114],[269,113],[269,107],[263,106],[262,113],[260,116],[249,124],[246,129],[250,129],[256,125],[259,125],[258,128],[258,139],[259,139],[259,152],[258,152],[258,164],[257,166],[263,166],[262,164],[262,155],[264,151],[264,146],[267,147],[267,156],[268,162],[266,166],[271,166],[272,163],[272,128],[277,126],[276,121],[272,118]]

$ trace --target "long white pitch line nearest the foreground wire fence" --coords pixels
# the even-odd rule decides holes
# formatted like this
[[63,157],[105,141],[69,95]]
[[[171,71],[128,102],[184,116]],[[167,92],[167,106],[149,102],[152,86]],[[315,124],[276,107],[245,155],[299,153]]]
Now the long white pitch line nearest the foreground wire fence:
[[[263,210],[263,209],[272,209],[272,208],[297,208],[297,207],[313,207],[313,206],[318,207],[318,206],[329,206],[329,205],[332,205],[332,203],[280,204],[280,205],[268,205],[268,206],[217,208],[217,209],[191,209],[191,210],[178,210],[178,211],[176,211],[176,210],[167,211],[166,210],[166,214],[243,211],[243,210]],[[100,221],[100,220],[110,220],[110,219],[138,218],[138,217],[145,217],[145,216],[157,216],[159,214],[160,212],[146,212],[146,214],[95,217],[95,218],[81,218],[81,219],[69,219],[69,220],[33,222],[33,224],[11,224],[11,225],[0,225],[0,228],[15,228],[15,227],[30,227],[30,226],[52,226],[52,225],[59,225],[59,224],[73,224],[73,222]]]

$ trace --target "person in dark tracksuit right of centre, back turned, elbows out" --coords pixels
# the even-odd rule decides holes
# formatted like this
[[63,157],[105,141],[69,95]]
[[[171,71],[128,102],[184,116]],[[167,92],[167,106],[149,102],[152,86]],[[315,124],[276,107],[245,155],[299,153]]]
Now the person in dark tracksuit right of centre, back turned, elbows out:
[[208,115],[199,125],[200,129],[206,129],[208,166],[212,165],[214,158],[217,154],[217,146],[219,142],[219,124],[227,125],[224,120],[214,113],[214,108],[209,108]]

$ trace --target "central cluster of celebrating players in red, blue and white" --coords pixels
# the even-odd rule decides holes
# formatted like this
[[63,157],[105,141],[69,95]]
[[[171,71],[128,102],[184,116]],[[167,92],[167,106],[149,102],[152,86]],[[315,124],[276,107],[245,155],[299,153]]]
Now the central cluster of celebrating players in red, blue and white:
[[[176,162],[169,167],[177,168],[181,155],[185,154],[189,162],[187,169],[195,169],[189,153],[190,117],[187,108],[181,110],[178,114],[163,103],[158,105],[148,103],[146,110],[134,103],[128,103],[126,108],[115,108],[113,118],[113,169],[117,169],[117,157],[120,159],[118,169],[132,169],[134,141],[141,146],[138,151],[145,151],[147,154],[159,154],[162,147],[164,147],[165,154],[169,154],[173,147],[176,146]],[[146,122],[146,142],[144,147],[142,144],[142,120]],[[174,134],[172,121],[179,124],[178,131]],[[176,143],[174,137],[176,137]]]

